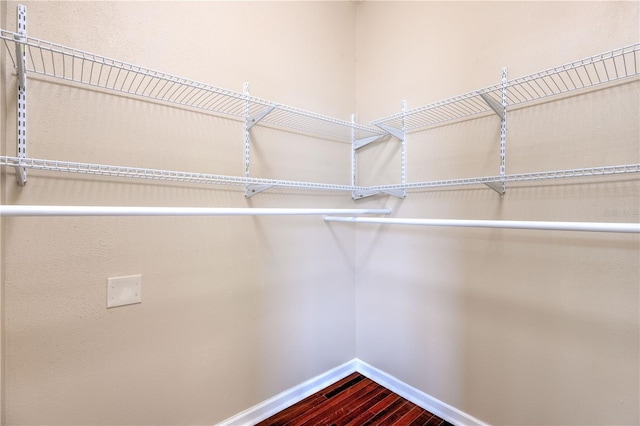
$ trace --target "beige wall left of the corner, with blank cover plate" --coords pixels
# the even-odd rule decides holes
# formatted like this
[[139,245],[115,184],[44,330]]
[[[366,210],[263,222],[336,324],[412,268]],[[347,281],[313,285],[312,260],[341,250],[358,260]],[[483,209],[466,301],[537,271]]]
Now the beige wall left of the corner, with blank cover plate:
[[[237,91],[249,81],[346,120],[355,109],[351,3],[27,6],[35,37]],[[14,2],[6,13],[14,28]],[[240,122],[35,76],[28,102],[33,157],[243,174]],[[254,139],[256,176],[349,183],[348,144]],[[239,187],[38,172],[18,188],[6,173],[9,204],[353,207],[344,194],[246,200]],[[7,218],[4,230],[7,424],[215,424],[355,353],[353,229],[236,217]],[[107,278],[130,274],[142,304],[107,310]]]

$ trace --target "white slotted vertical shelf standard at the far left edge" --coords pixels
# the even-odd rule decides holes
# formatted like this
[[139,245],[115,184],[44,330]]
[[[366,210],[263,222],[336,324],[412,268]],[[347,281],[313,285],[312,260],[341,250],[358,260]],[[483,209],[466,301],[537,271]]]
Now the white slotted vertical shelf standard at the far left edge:
[[[17,13],[18,37],[16,39],[16,62],[18,66],[18,102],[17,102],[17,157],[20,160],[27,158],[27,52],[24,42],[27,40],[27,8],[18,5]],[[27,169],[16,166],[18,185],[27,183]]]

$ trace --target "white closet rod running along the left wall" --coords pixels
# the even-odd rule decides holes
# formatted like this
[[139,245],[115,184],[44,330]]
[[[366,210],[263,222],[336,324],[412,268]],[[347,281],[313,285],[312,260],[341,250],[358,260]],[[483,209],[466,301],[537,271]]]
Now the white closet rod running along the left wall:
[[298,209],[226,207],[0,206],[0,216],[293,216],[390,214],[391,209]]

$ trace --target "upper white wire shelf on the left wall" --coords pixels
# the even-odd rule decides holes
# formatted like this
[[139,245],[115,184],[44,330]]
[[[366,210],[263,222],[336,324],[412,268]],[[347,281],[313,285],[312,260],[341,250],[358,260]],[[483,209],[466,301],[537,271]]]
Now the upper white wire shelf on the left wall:
[[33,37],[22,37],[11,31],[0,30],[0,38],[7,47],[14,67],[16,67],[15,50],[10,48],[10,44],[21,43],[24,46],[29,73],[241,120],[245,118],[247,106],[250,117],[270,109],[271,112],[262,118],[261,123],[322,135],[343,142],[351,142],[352,129],[356,131],[357,138],[384,134],[375,127],[351,123],[351,121],[176,77],[61,44]]

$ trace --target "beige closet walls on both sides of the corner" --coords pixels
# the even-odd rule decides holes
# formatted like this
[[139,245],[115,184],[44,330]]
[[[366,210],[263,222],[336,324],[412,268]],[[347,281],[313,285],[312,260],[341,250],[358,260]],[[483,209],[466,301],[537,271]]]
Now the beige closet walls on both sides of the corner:
[[[638,40],[638,4],[29,2],[29,33],[367,122]],[[15,3],[3,3],[13,28]],[[331,30],[328,31],[327,29]],[[357,56],[356,56],[357,53]],[[14,76],[3,152],[12,154]],[[4,79],[3,79],[4,80]],[[242,174],[242,126],[38,77],[38,158]],[[64,103],[64,107],[60,107]],[[639,162],[638,83],[509,114],[510,173]],[[495,174],[495,117],[408,140],[409,180]],[[349,147],[260,128],[254,175],[348,183]],[[470,141],[473,141],[471,144]],[[358,155],[399,178],[398,145]],[[346,194],[12,170],[8,204],[352,207]],[[637,221],[637,179],[377,197],[398,217]],[[616,214],[626,217],[616,217]],[[495,424],[636,424],[637,236],[317,218],[3,220],[8,424],[211,424],[357,356]],[[143,303],[107,310],[106,278]],[[6,368],[4,368],[6,367]]]

